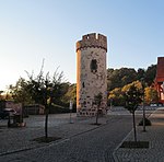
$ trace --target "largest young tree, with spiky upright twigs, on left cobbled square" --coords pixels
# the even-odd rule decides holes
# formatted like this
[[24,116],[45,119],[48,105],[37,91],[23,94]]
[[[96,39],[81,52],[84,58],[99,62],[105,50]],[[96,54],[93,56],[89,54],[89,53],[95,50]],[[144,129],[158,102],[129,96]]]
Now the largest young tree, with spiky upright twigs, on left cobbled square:
[[63,73],[59,73],[57,70],[52,77],[49,76],[49,72],[44,76],[43,67],[35,78],[33,73],[28,73],[28,92],[35,103],[43,104],[45,106],[45,138],[48,138],[49,108],[51,104],[56,104],[58,99],[63,94],[61,89]]

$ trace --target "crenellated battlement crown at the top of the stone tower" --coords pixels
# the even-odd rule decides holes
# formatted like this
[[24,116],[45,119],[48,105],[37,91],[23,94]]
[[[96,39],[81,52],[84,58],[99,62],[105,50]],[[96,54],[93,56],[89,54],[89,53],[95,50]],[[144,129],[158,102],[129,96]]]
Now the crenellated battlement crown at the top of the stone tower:
[[96,33],[83,35],[82,40],[77,42],[77,51],[87,47],[103,48],[107,51],[107,37]]

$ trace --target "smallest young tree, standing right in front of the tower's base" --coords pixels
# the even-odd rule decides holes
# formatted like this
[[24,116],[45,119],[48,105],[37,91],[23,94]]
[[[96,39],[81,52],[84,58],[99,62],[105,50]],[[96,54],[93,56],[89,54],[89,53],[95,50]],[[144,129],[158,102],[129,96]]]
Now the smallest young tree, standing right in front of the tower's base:
[[99,92],[97,95],[94,96],[94,103],[97,107],[96,109],[96,125],[98,125],[98,115],[99,115],[99,108],[103,100],[103,94]]

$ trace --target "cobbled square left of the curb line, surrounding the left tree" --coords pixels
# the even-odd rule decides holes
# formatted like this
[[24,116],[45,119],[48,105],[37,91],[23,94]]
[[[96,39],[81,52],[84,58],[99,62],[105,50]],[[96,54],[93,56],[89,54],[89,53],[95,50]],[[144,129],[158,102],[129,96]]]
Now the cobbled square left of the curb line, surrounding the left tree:
[[[66,139],[97,127],[94,125],[86,127],[90,118],[77,118],[75,114],[72,114],[71,117],[71,123],[75,125],[70,124],[69,114],[49,115],[48,135]],[[24,121],[26,123],[24,128],[8,128],[8,120],[0,120],[0,155],[45,146],[45,143],[33,141],[45,135],[45,116],[31,116]],[[101,121],[103,123],[102,119]]]

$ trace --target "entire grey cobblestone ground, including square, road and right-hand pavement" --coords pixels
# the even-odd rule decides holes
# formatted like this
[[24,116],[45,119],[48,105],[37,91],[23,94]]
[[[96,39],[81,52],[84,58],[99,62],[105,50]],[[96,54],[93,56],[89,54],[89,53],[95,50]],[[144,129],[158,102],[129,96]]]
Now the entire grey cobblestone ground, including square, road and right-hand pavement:
[[[150,114],[152,112],[150,111]],[[138,112],[137,120],[139,121],[141,117],[142,112]],[[145,132],[141,126],[137,127],[138,140],[149,141],[149,149],[118,147],[125,140],[133,140],[133,131],[130,132],[131,115],[121,111],[119,115],[115,111],[99,118],[101,126],[93,125],[95,118],[77,118],[72,114],[73,124],[70,124],[69,114],[50,115],[48,134],[62,139],[47,144],[32,141],[36,137],[44,136],[44,116],[26,118],[25,128],[9,129],[5,127],[7,120],[0,120],[0,161],[163,162],[164,111],[155,111],[150,119],[152,126],[147,127]]]

